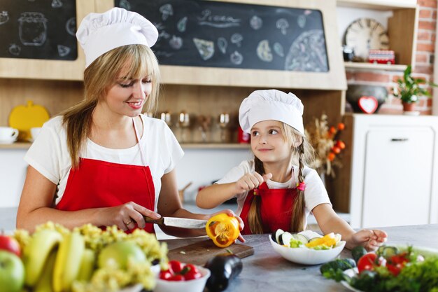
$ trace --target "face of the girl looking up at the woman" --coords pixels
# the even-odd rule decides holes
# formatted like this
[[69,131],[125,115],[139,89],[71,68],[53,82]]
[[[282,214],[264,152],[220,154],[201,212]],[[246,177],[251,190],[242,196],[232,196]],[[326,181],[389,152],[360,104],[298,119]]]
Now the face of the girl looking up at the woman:
[[251,149],[264,163],[290,163],[292,148],[285,139],[282,123],[277,120],[263,120],[253,126]]

